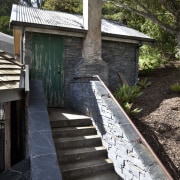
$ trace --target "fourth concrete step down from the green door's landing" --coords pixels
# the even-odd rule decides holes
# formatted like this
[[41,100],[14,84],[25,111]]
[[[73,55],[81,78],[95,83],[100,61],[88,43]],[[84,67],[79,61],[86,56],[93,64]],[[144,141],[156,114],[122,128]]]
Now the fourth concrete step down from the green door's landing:
[[107,157],[106,148],[98,147],[81,147],[76,149],[67,149],[57,151],[58,161],[61,163],[84,161],[94,157]]

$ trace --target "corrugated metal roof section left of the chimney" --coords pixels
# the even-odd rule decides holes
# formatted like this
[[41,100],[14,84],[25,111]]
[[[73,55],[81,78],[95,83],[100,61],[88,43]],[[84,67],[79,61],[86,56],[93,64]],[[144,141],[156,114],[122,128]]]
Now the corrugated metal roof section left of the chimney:
[[10,22],[82,29],[82,16],[13,5]]

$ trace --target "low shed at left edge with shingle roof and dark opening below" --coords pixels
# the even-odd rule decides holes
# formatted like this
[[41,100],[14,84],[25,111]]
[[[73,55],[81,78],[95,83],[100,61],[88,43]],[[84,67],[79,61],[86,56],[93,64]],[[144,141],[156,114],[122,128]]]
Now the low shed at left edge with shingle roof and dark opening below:
[[25,154],[24,69],[25,65],[0,50],[0,172]]

